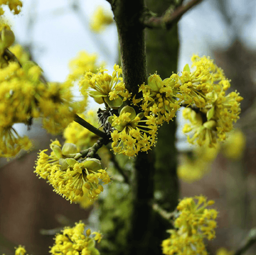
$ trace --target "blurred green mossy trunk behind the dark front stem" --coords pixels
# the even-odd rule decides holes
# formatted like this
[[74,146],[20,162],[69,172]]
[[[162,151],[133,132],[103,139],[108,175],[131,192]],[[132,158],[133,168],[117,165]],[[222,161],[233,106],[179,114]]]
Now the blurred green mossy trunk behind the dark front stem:
[[[147,0],[150,10],[162,15],[170,6],[170,1]],[[147,30],[146,31],[146,52],[148,74],[157,71],[162,79],[171,76],[177,70],[179,51],[178,27],[175,24],[171,30]],[[173,211],[178,203],[179,182],[177,178],[177,150],[175,148],[176,122],[164,123],[157,134],[157,145],[155,148],[155,173],[154,192],[157,194],[157,202],[166,211]],[[156,240],[159,243],[158,250],[154,254],[162,254],[160,244],[169,234],[167,229],[171,225],[159,215],[155,215],[154,229]]]

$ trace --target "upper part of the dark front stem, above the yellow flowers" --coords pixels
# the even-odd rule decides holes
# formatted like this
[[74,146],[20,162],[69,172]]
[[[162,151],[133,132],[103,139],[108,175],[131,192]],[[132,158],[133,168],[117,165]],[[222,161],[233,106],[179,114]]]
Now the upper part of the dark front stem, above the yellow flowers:
[[133,95],[138,94],[138,85],[147,79],[144,27],[139,22],[143,9],[144,0],[118,0],[112,5],[124,83]]

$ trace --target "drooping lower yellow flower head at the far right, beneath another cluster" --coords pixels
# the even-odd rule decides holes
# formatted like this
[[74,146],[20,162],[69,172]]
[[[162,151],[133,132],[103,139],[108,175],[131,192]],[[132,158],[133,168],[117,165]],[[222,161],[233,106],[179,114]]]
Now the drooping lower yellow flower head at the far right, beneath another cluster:
[[224,141],[226,132],[233,129],[233,122],[239,119],[240,101],[243,97],[240,97],[238,92],[231,92],[227,96],[225,92],[210,92],[206,97],[209,98],[207,108],[198,113],[190,108],[183,111],[184,119],[190,121],[183,132],[192,130],[193,136],[188,136],[188,141],[192,144],[197,141],[198,145],[213,146],[217,139]]

